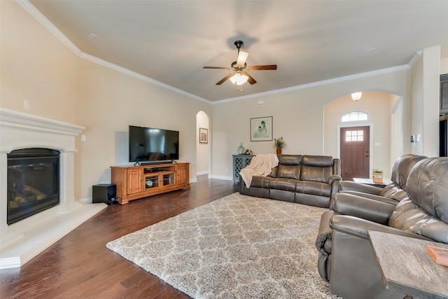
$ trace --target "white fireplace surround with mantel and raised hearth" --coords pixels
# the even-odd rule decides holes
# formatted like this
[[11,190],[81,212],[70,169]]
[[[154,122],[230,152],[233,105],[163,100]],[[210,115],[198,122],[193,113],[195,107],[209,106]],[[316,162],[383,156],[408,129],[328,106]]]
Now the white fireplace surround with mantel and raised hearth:
[[[75,138],[83,130],[79,125],[0,107],[0,269],[27,263],[107,207],[74,197]],[[31,157],[37,148],[44,157],[35,160]],[[24,153],[29,158],[25,162],[9,159]],[[16,182],[11,183],[8,176]],[[43,202],[48,207],[40,207]],[[22,209],[31,205],[38,207],[29,216]],[[14,220],[11,211],[18,211]]]

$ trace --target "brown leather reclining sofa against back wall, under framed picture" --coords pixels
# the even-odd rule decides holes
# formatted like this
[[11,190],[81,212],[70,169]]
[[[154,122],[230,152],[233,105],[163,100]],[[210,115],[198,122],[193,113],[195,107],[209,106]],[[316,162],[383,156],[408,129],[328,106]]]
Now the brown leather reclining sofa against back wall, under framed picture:
[[239,176],[239,193],[256,197],[330,207],[339,191],[340,160],[325,155],[278,155],[268,176],[253,176],[249,188]]

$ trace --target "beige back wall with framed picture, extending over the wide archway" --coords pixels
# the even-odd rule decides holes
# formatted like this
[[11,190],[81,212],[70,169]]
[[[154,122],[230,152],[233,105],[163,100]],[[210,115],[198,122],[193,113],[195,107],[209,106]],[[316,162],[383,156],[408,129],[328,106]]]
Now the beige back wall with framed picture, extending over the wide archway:
[[[325,105],[355,90],[377,90],[402,96],[404,111],[410,111],[409,74],[409,69],[402,69],[385,74],[360,76],[361,78],[347,78],[336,83],[290,90],[276,95],[214,104],[212,120],[214,177],[232,176],[232,154],[237,153],[239,142],[243,142],[244,147],[251,148],[255,154],[274,153],[273,141],[251,142],[250,139],[250,119],[262,116],[273,117],[274,138],[283,137],[287,144],[283,153],[336,157],[337,140],[334,132],[324,132],[327,120],[324,113]],[[262,101],[263,104],[259,105],[258,101]],[[387,106],[386,110],[384,118],[390,119],[390,107]],[[409,113],[405,115],[409,116]],[[405,123],[410,120],[408,117],[402,121]],[[390,123],[390,120],[387,122]],[[403,127],[406,134],[409,134],[409,125]],[[388,143],[389,141],[381,142],[384,148]],[[403,146],[405,147],[403,151],[409,152],[409,145]],[[385,155],[388,157],[390,153]]]

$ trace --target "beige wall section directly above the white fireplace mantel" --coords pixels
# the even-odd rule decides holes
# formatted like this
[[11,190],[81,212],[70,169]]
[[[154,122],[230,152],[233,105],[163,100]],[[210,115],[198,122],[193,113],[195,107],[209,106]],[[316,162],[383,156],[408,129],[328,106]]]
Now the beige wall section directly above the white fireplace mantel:
[[0,6],[1,106],[75,123],[79,58],[15,1]]

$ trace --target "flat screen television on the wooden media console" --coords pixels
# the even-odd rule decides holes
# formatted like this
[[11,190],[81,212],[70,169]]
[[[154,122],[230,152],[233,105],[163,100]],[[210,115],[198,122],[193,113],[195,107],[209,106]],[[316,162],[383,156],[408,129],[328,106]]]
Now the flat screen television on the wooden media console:
[[129,126],[129,162],[152,164],[179,160],[179,131]]

